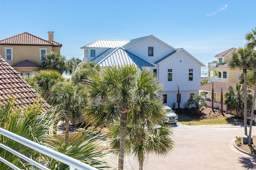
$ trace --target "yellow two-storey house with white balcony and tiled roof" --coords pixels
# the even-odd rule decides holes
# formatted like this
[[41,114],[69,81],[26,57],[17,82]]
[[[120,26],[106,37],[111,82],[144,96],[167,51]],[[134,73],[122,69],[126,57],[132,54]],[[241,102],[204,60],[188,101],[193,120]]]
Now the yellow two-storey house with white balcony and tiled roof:
[[239,75],[241,74],[241,69],[231,69],[228,66],[228,62],[237,49],[228,49],[215,57],[217,57],[217,63],[208,63],[208,82],[229,82],[236,83],[239,82]]

